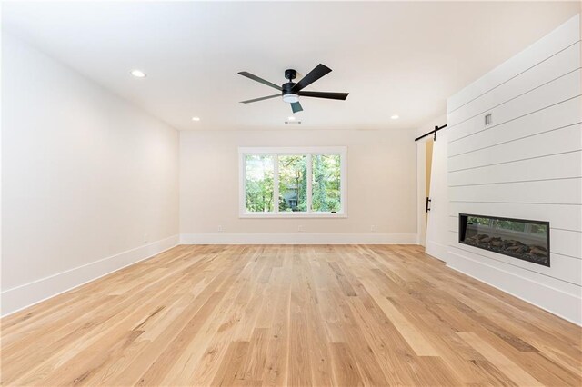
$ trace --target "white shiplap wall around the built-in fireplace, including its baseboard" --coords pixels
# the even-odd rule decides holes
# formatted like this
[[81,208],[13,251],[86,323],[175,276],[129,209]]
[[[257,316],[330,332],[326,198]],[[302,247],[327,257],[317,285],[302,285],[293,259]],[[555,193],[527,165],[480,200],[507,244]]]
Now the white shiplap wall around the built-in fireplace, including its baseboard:
[[[580,15],[447,101],[447,264],[582,324]],[[485,126],[484,116],[493,124]],[[458,243],[458,213],[550,222],[551,267]]]

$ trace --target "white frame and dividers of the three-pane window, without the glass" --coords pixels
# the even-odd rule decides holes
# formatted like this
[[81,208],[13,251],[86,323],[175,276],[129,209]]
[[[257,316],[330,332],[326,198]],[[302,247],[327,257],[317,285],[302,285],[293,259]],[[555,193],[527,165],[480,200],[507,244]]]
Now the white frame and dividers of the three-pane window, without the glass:
[[[246,178],[245,158],[247,154],[271,155],[273,160],[273,212],[251,213],[246,211]],[[306,155],[307,164],[307,211],[279,213],[279,155]],[[313,201],[312,154],[338,154],[340,162],[340,195],[341,209],[337,213],[316,212],[311,210]],[[239,147],[238,148],[238,216],[240,218],[346,218],[347,217],[347,147],[346,146],[310,146],[310,147]]]

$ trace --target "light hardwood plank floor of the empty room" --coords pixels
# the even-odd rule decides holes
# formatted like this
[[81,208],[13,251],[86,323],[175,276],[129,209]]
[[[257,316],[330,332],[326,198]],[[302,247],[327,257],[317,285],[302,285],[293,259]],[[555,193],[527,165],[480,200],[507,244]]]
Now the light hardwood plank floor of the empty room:
[[3,385],[571,385],[579,327],[418,246],[178,246],[2,321]]

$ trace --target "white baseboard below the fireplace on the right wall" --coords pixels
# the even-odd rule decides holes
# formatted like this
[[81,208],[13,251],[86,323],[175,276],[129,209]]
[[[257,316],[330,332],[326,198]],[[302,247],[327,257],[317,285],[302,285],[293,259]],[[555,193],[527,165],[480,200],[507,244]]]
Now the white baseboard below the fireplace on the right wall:
[[582,325],[580,294],[566,293],[451,251],[447,253],[447,266],[527,303],[534,304],[549,313],[556,314],[570,323]]

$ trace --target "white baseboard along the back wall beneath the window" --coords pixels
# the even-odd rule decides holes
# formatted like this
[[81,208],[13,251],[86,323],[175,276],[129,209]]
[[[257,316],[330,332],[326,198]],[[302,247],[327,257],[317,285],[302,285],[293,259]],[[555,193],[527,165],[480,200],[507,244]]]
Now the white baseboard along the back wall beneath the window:
[[416,233],[183,233],[182,244],[417,244]]

